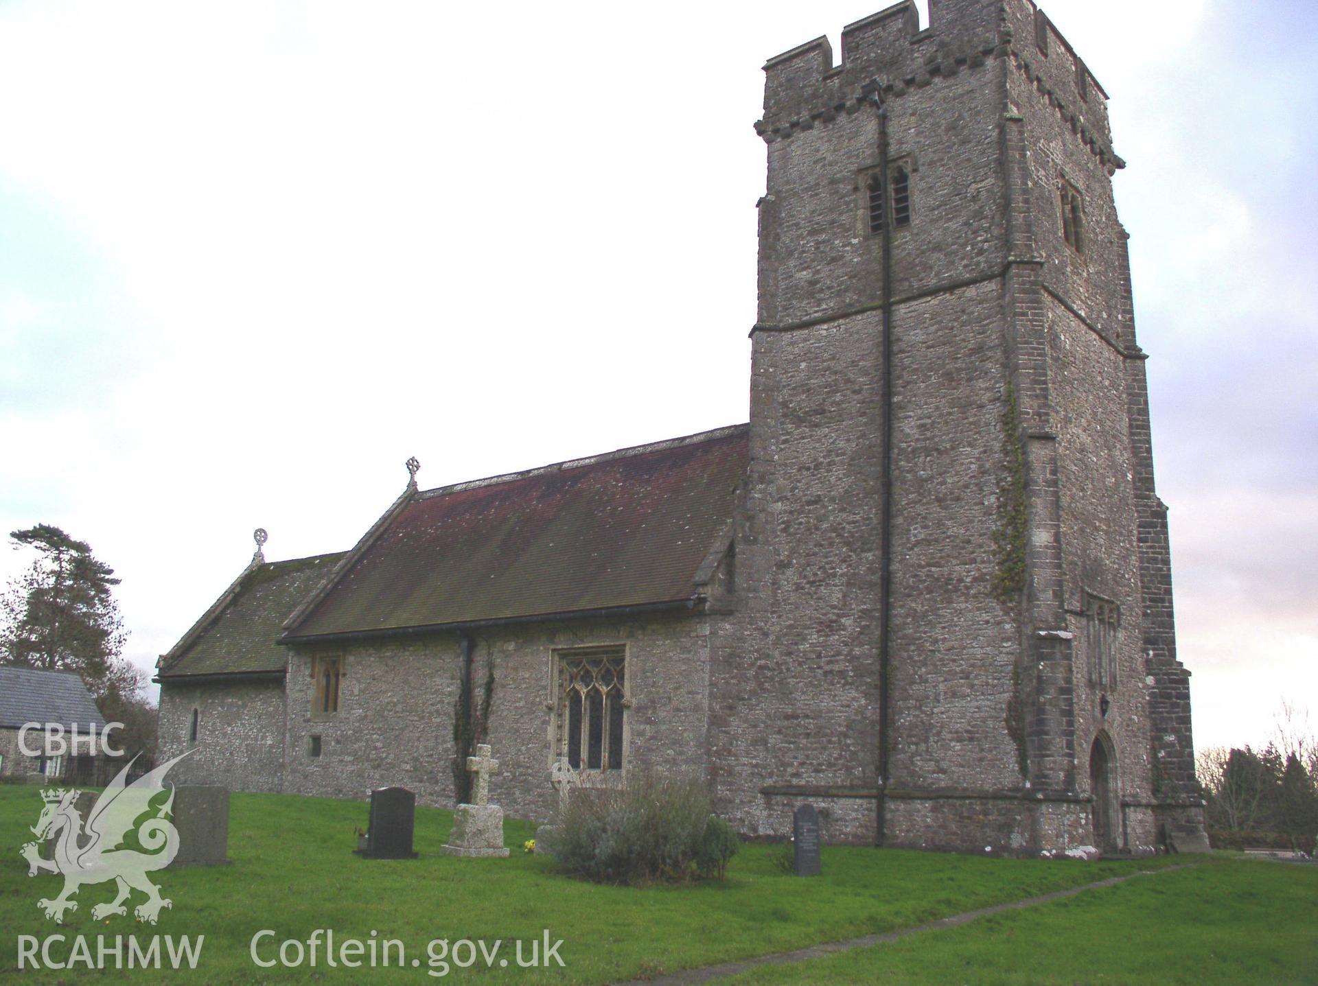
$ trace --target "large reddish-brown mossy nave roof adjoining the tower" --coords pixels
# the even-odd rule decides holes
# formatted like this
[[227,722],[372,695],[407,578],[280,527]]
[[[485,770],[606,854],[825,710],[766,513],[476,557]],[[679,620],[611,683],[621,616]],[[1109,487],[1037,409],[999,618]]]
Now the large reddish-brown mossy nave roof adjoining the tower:
[[747,431],[411,490],[285,639],[693,600],[701,567],[730,539]]

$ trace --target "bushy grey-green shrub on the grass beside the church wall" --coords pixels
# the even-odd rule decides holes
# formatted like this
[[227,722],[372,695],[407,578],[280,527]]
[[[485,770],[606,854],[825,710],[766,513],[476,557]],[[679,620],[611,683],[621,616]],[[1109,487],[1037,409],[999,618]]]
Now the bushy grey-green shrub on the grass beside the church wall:
[[709,809],[699,783],[638,774],[626,787],[576,788],[546,848],[565,870],[596,883],[721,875],[737,837]]

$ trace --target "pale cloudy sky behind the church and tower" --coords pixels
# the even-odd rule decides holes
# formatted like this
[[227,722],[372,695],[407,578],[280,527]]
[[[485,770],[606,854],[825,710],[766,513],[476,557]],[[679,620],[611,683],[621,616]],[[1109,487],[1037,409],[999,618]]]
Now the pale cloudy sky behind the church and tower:
[[[409,456],[745,420],[760,66],[880,5],[0,0],[0,523],[90,542],[152,668]],[[1259,743],[1318,714],[1318,5],[1044,9],[1130,162],[1195,740]]]

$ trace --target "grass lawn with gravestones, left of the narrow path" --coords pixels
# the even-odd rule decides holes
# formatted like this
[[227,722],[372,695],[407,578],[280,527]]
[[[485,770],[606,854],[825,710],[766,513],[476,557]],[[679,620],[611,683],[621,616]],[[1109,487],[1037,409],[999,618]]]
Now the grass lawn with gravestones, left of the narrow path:
[[[431,940],[502,940],[490,969],[478,958],[471,969],[451,968],[449,979],[497,982],[604,983],[642,974],[709,965],[780,952],[875,931],[920,924],[986,904],[1131,873],[1161,861],[1098,862],[986,859],[903,850],[825,848],[824,875],[797,879],[780,873],[771,848],[746,846],[726,883],[681,887],[600,887],[556,873],[543,856],[521,852],[530,826],[509,821],[507,859],[453,859],[439,854],[452,821],[440,809],[416,811],[419,859],[366,861],[352,854],[355,825],[366,820],[365,803],[289,795],[235,794],[229,821],[232,866],[167,871],[156,878],[171,910],[156,927],[129,917],[91,919],[94,904],[109,900],[109,883],[84,886],[79,910],[63,927],[47,921],[37,899],[58,895],[50,874],[29,879],[18,848],[41,809],[38,788],[0,786],[0,979],[21,982],[119,982],[141,973],[17,973],[20,935],[199,936],[206,941],[195,970],[148,973],[153,982],[426,982]],[[1168,875],[1157,879],[1166,879]],[[1184,884],[1177,884],[1184,886]],[[1193,884],[1191,884],[1193,887]],[[1151,886],[1144,892],[1155,892]],[[130,906],[138,903],[134,895]],[[1310,902],[1311,903],[1311,902]],[[132,911],[129,911],[132,915]],[[1006,920],[1006,919],[1004,919]],[[1289,920],[1289,916],[1286,916]],[[406,948],[402,968],[257,968],[249,954],[253,935],[274,931],[261,957],[273,958],[283,940],[307,941],[318,928],[344,939],[395,939]],[[544,929],[564,944],[565,968],[519,969],[513,942],[540,940]],[[1120,939],[1111,946],[1119,949]],[[127,946],[125,946],[127,948]],[[290,953],[290,956],[294,953]],[[51,958],[70,956],[69,944]],[[413,968],[411,961],[419,960]],[[464,956],[465,958],[465,956]],[[509,966],[500,966],[509,958]]]

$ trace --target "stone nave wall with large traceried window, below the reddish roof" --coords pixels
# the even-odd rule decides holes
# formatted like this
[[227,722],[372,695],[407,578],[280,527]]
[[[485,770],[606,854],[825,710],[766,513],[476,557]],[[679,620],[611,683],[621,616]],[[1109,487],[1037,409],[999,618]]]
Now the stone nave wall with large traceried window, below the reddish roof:
[[[564,649],[626,647],[626,774],[704,775],[706,617],[523,624],[471,633],[477,705],[486,668],[494,667],[488,741],[500,770],[490,779],[490,800],[510,816],[547,820],[556,804],[548,783],[559,714],[551,664]],[[457,634],[360,642],[324,652],[340,654],[344,662],[333,716],[310,710],[312,651],[298,647],[290,663],[286,790],[365,798],[372,788],[401,784],[422,804],[451,807]],[[311,736],[320,737],[318,758],[310,755]]]

